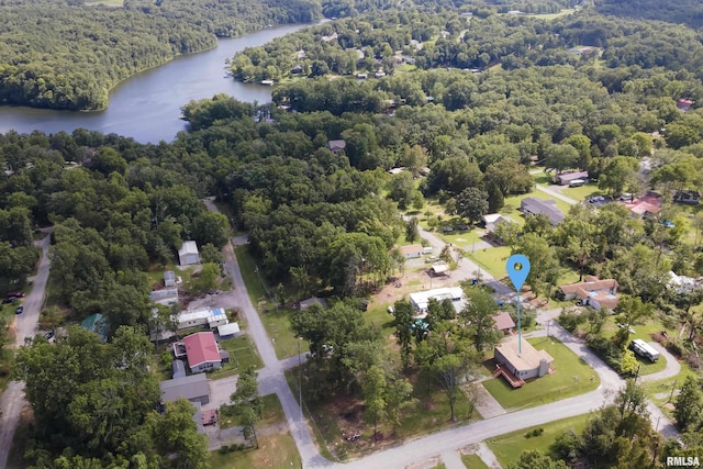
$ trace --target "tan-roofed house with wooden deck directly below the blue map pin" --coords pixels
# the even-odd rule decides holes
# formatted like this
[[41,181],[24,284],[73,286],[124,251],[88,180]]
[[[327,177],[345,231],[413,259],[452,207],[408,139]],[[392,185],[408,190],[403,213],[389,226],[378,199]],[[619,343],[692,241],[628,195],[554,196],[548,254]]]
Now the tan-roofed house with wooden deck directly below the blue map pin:
[[542,378],[554,371],[554,358],[520,336],[511,336],[496,345],[493,359],[496,364],[494,375],[502,375],[513,388],[520,388],[527,379]]

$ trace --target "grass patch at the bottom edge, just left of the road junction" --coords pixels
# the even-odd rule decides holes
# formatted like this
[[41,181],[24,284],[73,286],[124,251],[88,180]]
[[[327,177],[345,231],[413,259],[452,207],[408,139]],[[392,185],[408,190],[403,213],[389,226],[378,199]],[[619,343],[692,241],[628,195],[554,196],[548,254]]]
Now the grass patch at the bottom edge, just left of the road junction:
[[258,449],[222,454],[210,453],[210,466],[217,469],[290,469],[302,467],[295,440],[290,433],[259,436]]

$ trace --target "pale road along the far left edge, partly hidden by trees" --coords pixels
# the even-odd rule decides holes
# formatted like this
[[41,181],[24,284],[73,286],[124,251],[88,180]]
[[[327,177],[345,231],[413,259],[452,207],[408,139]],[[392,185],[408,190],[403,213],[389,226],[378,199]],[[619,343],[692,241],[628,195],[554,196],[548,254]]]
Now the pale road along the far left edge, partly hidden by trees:
[[[42,259],[34,278],[32,291],[24,299],[24,312],[14,316],[16,334],[15,347],[24,345],[25,338],[34,337],[40,321],[40,312],[44,304],[44,292],[48,280],[49,258],[48,246],[51,230],[45,231],[46,237],[38,244],[42,247]],[[37,243],[35,243],[36,245]],[[12,447],[12,437],[20,421],[20,414],[26,402],[24,401],[24,382],[10,381],[8,389],[0,398],[0,468],[8,464],[8,456]]]

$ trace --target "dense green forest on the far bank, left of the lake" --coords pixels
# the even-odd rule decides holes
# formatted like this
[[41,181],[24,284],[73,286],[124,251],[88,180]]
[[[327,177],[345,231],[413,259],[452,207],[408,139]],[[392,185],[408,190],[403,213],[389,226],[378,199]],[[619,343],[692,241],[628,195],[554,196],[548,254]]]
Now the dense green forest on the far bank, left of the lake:
[[320,15],[314,0],[125,1],[123,8],[5,2],[0,4],[0,103],[103,109],[109,90],[137,71],[212,48],[217,37]]

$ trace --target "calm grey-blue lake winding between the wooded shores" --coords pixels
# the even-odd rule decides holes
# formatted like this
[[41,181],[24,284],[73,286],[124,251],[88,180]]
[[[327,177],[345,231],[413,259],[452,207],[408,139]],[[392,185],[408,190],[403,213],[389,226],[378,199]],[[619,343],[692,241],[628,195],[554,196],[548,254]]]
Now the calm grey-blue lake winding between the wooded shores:
[[123,81],[110,93],[108,109],[100,112],[54,111],[0,107],[0,133],[11,129],[20,133],[38,130],[55,133],[83,127],[130,136],[142,143],[171,142],[186,130],[178,119],[180,108],[191,99],[227,93],[241,101],[259,103],[271,100],[271,88],[242,83],[225,77],[225,59],[246,47],[267,42],[305,27],[294,24],[270,27],[246,36],[221,40],[217,47],[143,71]]

